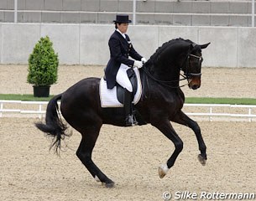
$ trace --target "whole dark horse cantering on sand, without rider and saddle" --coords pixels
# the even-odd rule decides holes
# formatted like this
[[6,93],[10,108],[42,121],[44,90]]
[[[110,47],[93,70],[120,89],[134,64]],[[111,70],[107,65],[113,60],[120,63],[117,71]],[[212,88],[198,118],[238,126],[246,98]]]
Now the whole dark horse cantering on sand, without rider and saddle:
[[[138,122],[140,125],[151,123],[175,144],[175,151],[166,164],[159,167],[160,178],[165,177],[183,148],[183,142],[170,121],[189,126],[195,132],[201,152],[198,159],[202,165],[206,164],[206,145],[201,137],[201,129],[196,121],[181,111],[185,95],[180,90],[180,70],[184,72],[183,77],[188,80],[188,86],[193,90],[198,89],[201,86],[201,49],[207,46],[208,44],[199,45],[185,39],[170,40],[159,47],[139,70],[143,94],[135,106]],[[46,123],[39,122],[36,126],[40,131],[55,137],[52,147],[55,146],[58,151],[60,141],[69,135],[65,132],[65,123],[60,119],[57,101],[61,100],[60,111],[65,121],[81,133],[77,157],[93,178],[111,188],[114,183],[91,160],[91,152],[102,124],[124,126],[124,112],[122,107],[102,108],[99,83],[99,78],[86,78],[64,93],[55,95],[47,106]]]

